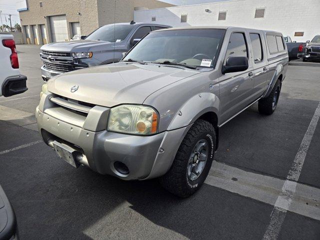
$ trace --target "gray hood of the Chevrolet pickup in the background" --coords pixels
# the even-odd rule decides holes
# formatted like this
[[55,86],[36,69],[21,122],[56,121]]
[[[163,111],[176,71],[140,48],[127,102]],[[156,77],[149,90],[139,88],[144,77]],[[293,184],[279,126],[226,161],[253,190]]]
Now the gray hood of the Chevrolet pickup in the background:
[[89,51],[96,46],[103,47],[104,49],[113,49],[113,42],[98,41],[98,40],[74,40],[74,41],[61,41],[52,42],[41,46],[44,51],[58,51],[58,52],[79,52]]

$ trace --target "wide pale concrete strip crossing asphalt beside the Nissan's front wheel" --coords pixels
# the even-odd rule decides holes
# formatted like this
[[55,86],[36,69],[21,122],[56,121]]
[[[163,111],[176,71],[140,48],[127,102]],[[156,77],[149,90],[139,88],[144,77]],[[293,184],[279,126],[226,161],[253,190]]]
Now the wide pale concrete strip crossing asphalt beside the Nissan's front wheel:
[[[241,196],[250,197],[270,205],[278,204],[282,207],[284,207],[285,204],[276,202],[278,196],[283,191],[283,186],[289,191],[292,188],[292,185],[294,185],[294,189],[296,186],[295,194],[290,199],[290,206],[289,204],[286,204],[286,208],[292,212],[320,220],[320,207],[318,205],[319,202],[317,202],[317,200],[320,199],[320,189],[296,183],[295,181],[289,181],[290,183],[285,184],[286,181],[287,180],[277,177],[253,173],[221,162],[213,161],[205,183]],[[280,218],[283,215],[282,212],[275,210],[272,215],[274,218],[272,223],[281,220]],[[274,226],[278,226],[278,224],[274,224]],[[272,229],[274,229],[274,227],[272,227]]]

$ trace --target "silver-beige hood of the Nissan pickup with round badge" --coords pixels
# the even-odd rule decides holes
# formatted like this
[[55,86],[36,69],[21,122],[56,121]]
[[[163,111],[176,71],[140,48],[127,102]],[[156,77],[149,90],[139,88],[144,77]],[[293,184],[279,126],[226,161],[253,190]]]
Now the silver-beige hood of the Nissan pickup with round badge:
[[[156,64],[113,63],[70,71],[47,82],[47,89],[71,99],[102,106],[142,104],[154,91],[199,73]],[[71,92],[72,86],[78,89]]]

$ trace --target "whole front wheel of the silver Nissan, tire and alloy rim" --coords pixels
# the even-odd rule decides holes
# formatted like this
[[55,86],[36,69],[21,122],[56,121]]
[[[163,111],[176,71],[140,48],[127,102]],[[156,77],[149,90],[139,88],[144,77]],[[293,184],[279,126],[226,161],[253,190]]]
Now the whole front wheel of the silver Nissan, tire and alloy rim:
[[196,120],[183,138],[171,168],[160,177],[161,185],[180,197],[192,195],[208,175],[215,144],[212,124]]

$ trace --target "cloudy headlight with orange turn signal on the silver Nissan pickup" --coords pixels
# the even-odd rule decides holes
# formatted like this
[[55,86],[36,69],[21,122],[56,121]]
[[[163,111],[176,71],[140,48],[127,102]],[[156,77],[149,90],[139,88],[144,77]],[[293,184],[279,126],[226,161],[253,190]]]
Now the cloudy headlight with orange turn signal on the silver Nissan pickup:
[[158,114],[149,106],[119,105],[111,108],[108,131],[150,135],[157,132]]

